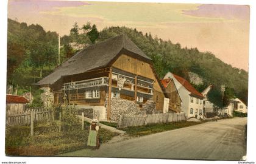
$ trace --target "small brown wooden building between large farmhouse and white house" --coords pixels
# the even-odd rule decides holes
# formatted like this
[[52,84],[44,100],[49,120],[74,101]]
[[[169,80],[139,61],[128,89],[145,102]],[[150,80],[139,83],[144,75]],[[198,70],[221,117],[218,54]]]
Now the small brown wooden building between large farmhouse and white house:
[[182,100],[172,78],[163,79],[162,84],[169,98],[169,112],[182,112]]

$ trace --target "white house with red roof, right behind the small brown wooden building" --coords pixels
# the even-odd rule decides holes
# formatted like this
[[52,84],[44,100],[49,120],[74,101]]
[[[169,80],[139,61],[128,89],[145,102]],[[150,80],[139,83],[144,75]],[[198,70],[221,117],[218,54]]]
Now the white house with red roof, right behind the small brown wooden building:
[[188,118],[204,115],[202,102],[205,98],[204,95],[196,91],[187,80],[174,73],[166,73],[164,79],[166,78],[172,78],[174,81],[182,100],[182,111]]

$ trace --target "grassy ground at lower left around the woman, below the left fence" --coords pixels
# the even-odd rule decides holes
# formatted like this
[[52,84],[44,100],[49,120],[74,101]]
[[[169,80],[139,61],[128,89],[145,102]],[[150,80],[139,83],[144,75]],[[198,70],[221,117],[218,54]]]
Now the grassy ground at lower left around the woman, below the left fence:
[[[40,128],[42,126],[43,128]],[[53,130],[49,130],[53,129]],[[58,131],[52,125],[38,125],[35,127],[34,136],[30,136],[30,128],[19,126],[6,128],[5,154],[6,155],[31,155],[31,156],[52,156],[77,149],[88,148],[88,125],[85,124],[84,131],[80,127],[72,131]],[[57,129],[57,131],[55,130]],[[101,143],[111,140],[118,135],[106,129],[99,130]]]

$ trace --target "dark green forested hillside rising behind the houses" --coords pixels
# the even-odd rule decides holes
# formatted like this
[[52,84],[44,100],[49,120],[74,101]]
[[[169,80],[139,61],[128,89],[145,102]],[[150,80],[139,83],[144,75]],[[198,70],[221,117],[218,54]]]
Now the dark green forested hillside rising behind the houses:
[[[182,48],[179,43],[163,41],[150,33],[138,32],[127,27],[108,27],[100,32],[96,25],[85,24],[81,28],[74,24],[69,35],[61,38],[61,61],[74,55],[76,49],[69,43],[89,44],[126,33],[132,41],[153,60],[158,76],[173,72],[189,80],[189,73],[197,73],[204,84],[194,85],[202,91],[213,84],[216,91],[221,84],[232,90],[236,97],[247,103],[248,72],[232,67],[210,52],[199,52],[196,48]],[[8,20],[7,82],[26,88],[51,72],[58,63],[58,36],[56,32],[45,32],[39,25],[27,26]],[[23,80],[21,80],[23,79]],[[14,82],[13,82],[14,81]]]

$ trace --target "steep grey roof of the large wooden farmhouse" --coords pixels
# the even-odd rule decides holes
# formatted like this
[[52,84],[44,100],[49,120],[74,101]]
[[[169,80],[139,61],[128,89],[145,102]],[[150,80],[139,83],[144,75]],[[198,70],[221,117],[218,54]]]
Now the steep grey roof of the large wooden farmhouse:
[[54,72],[35,84],[54,84],[63,76],[75,75],[87,72],[88,70],[106,67],[123,49],[136,53],[146,60],[151,60],[126,35],[118,35],[81,50],[68,61],[57,67]]

